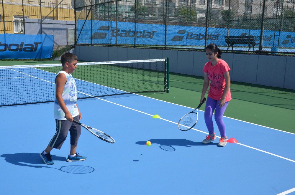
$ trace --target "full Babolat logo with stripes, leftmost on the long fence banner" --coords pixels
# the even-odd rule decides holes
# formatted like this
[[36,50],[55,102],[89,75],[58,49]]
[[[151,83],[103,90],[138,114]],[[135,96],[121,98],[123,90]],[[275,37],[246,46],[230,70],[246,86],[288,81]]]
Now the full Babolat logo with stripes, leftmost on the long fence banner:
[[[99,31],[109,31],[110,26],[101,26],[99,27]],[[135,37],[136,38],[147,38],[147,39],[153,39],[154,35],[157,31],[133,31],[131,29],[128,30],[121,30],[121,29],[112,29],[111,31],[111,36],[112,37]],[[108,33],[107,32],[95,32],[94,34],[92,34],[91,37],[89,37],[89,39],[105,39],[106,35]]]

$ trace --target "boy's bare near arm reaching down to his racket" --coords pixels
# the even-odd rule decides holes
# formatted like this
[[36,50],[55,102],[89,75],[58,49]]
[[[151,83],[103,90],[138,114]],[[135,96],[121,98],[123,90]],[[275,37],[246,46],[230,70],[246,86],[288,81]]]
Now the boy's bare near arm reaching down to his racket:
[[58,104],[60,105],[60,108],[65,113],[65,118],[68,121],[73,122],[73,116],[68,111],[68,108],[65,106],[65,101],[63,100],[63,88],[65,87],[65,83],[67,82],[67,77],[64,74],[58,74],[55,78],[55,84],[56,84],[56,92],[55,97],[58,101]]

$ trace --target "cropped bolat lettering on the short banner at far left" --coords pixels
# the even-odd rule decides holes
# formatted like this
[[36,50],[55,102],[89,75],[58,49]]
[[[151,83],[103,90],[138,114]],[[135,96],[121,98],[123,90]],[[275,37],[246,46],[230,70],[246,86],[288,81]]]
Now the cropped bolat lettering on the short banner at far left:
[[6,44],[0,42],[0,52],[5,52],[7,50],[10,52],[35,52],[37,51],[39,44],[42,44],[42,42],[35,42],[34,44],[24,44],[24,42],[21,42],[20,44]]

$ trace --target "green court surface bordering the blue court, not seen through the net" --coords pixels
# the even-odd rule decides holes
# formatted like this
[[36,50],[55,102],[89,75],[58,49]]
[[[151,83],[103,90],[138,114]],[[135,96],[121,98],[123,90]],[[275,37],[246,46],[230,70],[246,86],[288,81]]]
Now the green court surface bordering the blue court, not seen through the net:
[[[0,65],[56,63],[60,61],[1,61]],[[170,73],[169,93],[140,94],[195,108],[200,101],[202,86],[203,77]],[[224,116],[295,133],[295,90],[233,81],[230,89],[232,100]]]

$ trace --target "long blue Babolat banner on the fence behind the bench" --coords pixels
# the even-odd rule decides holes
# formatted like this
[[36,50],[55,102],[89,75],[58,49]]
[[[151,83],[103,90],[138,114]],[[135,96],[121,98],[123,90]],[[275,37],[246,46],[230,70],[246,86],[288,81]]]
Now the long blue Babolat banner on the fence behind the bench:
[[[83,29],[82,29],[83,27]],[[91,21],[78,20],[78,43],[86,44],[136,44],[164,45],[165,25],[161,24],[136,24],[131,22]],[[82,29],[82,31],[81,31]],[[295,33],[265,30],[263,32],[263,47],[295,47]],[[230,36],[254,36],[257,44],[260,42],[260,30],[229,29]],[[215,43],[218,46],[226,46],[224,37],[227,36],[225,28],[208,28],[207,43]],[[91,42],[92,40],[92,42]],[[167,26],[167,46],[204,46],[205,27]],[[241,45],[239,45],[241,46]],[[246,45],[245,45],[246,46]],[[257,45],[258,47],[258,45]]]

